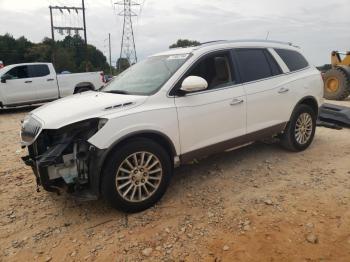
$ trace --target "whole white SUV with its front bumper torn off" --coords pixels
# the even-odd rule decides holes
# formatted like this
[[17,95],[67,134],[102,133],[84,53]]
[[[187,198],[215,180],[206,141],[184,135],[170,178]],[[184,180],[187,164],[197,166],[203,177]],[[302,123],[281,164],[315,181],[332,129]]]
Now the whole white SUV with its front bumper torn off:
[[38,186],[137,212],[164,194],[173,168],[272,136],[313,140],[323,82],[299,48],[218,41],[153,55],[99,92],[42,106],[23,121]]

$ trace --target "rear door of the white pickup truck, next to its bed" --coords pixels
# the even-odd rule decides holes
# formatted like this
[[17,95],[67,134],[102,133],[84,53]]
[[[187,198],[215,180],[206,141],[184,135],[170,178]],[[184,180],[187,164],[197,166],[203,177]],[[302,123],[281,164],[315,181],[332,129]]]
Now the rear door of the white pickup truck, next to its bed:
[[47,64],[28,65],[32,85],[36,88],[37,100],[46,101],[58,97],[56,74]]

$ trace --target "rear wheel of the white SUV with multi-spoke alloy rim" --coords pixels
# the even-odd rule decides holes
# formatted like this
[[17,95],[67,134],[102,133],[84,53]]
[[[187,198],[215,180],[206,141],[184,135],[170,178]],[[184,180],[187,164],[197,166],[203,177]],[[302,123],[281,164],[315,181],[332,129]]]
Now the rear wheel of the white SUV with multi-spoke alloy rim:
[[316,113],[310,106],[301,104],[294,110],[282,134],[281,144],[290,151],[303,151],[312,143],[315,131]]

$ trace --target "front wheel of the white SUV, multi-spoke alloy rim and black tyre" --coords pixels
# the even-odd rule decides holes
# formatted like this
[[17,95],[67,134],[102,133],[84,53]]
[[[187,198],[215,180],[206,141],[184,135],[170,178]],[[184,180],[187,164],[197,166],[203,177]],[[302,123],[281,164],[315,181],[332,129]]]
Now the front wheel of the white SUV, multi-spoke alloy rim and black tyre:
[[158,202],[173,172],[165,149],[145,138],[122,145],[105,163],[102,194],[114,208],[128,213],[143,211]]

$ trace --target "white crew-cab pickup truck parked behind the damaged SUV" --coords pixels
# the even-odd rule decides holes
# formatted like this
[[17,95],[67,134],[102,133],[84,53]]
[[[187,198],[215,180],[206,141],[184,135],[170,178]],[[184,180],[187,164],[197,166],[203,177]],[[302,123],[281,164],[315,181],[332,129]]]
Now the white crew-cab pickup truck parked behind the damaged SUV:
[[103,72],[56,74],[51,63],[25,63],[0,69],[0,108],[53,101],[104,85]]

